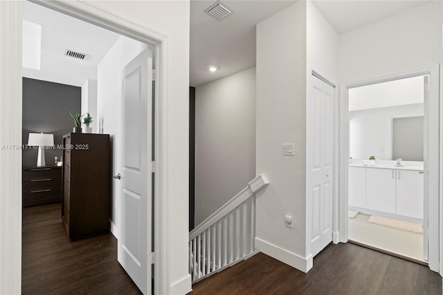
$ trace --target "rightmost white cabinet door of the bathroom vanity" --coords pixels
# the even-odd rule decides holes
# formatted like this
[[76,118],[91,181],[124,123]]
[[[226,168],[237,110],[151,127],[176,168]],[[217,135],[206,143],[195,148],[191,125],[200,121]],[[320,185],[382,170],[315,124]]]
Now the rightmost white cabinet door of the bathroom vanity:
[[397,170],[397,215],[423,219],[422,171]]

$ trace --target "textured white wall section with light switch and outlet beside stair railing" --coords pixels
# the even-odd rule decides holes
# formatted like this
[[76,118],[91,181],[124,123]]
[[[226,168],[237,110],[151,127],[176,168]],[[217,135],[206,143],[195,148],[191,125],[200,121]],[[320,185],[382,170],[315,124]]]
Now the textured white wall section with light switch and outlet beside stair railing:
[[[305,261],[306,2],[257,24],[256,174],[270,185],[256,196],[255,247],[298,269]],[[294,144],[294,156],[282,155]],[[284,225],[293,216],[293,228]]]

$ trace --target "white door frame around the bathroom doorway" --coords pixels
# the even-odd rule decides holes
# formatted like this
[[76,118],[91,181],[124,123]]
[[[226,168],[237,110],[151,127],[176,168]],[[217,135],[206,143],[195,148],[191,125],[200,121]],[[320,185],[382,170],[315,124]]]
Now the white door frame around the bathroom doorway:
[[[442,271],[440,268],[440,222],[442,205],[442,192],[440,188],[440,181],[442,175],[440,174],[442,157],[440,154],[440,141],[442,140],[442,129],[440,125],[440,116],[443,112],[440,110],[442,105],[439,103],[441,93],[440,88],[440,65],[428,66],[422,69],[415,69],[412,71],[406,71],[402,73],[393,73],[379,78],[371,78],[368,80],[350,82],[347,84],[341,84],[340,86],[340,102],[338,109],[339,118],[339,148],[338,154],[338,242],[347,242],[347,167],[349,159],[349,118],[348,118],[348,89],[354,87],[360,87],[379,82],[388,82],[392,80],[399,80],[403,78],[411,78],[417,75],[429,75],[431,88],[429,89],[429,105],[428,113],[431,123],[429,124],[428,132],[430,134],[436,134],[437,136],[429,136],[428,150],[429,159],[428,171],[431,172],[428,178],[428,265],[433,271]],[[426,114],[426,111],[425,111]],[[431,197],[433,196],[433,197]],[[426,196],[425,196],[426,199]]]

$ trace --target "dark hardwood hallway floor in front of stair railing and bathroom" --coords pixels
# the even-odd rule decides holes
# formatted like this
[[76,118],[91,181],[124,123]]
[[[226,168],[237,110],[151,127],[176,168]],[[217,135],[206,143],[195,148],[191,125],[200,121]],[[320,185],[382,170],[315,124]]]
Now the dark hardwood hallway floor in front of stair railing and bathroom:
[[198,294],[442,294],[428,267],[354,244],[330,244],[302,273],[263,253],[192,285]]

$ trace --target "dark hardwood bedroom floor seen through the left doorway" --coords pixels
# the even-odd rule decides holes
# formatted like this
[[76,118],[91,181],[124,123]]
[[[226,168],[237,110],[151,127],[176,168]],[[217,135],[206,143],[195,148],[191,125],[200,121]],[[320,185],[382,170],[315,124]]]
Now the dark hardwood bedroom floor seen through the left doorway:
[[22,294],[141,294],[111,233],[71,242],[60,204],[24,208]]

